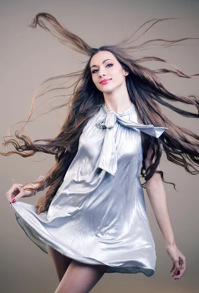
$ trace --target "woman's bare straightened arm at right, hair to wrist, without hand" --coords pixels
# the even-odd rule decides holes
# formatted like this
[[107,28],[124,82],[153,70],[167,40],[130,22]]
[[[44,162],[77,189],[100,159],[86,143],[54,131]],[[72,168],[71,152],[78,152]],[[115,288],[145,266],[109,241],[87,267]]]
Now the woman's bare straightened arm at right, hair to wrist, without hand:
[[[147,155],[148,158],[150,158],[151,153],[151,148],[149,148]],[[155,157],[153,158],[152,162],[154,163],[154,161]],[[146,158],[146,169],[148,166],[150,166],[150,161]],[[160,170],[160,164],[158,165],[157,170]],[[169,218],[166,193],[160,174],[155,173],[148,181],[146,181],[146,192],[152,206],[155,218],[163,234],[163,239],[165,241],[166,247],[175,245],[176,242],[174,239],[174,233]]]

